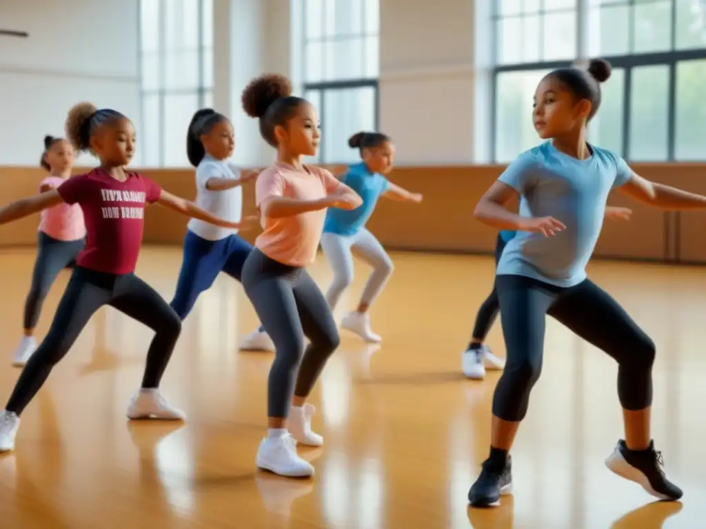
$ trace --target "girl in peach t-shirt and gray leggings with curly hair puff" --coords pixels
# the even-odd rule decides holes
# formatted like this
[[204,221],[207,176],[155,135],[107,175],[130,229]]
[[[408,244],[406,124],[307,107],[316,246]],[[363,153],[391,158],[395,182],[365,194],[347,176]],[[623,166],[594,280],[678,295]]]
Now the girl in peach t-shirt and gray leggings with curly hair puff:
[[[304,267],[316,257],[326,209],[355,209],[362,200],[325,169],[301,164],[302,156],[316,154],[318,116],[309,102],[291,93],[289,80],[281,75],[256,78],[243,92],[243,108],[260,119],[263,138],[277,149],[277,162],[257,179],[255,200],[264,232],[241,279],[275,343],[268,437],[256,463],[294,478],[313,475],[313,466],[297,455],[295,444],[323,444],[321,435],[311,431],[314,408],[306,398],[339,343],[328,303]],[[311,342],[306,351],[304,334]]]

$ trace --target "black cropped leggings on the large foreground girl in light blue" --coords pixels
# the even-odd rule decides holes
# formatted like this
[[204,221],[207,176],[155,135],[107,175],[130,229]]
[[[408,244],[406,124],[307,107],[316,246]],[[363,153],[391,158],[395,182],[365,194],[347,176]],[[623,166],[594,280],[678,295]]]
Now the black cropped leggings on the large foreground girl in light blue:
[[561,288],[525,276],[497,276],[507,360],[493,396],[493,415],[520,421],[542,371],[545,314],[618,363],[618,396],[626,410],[652,403],[654,342],[602,288],[586,279]]

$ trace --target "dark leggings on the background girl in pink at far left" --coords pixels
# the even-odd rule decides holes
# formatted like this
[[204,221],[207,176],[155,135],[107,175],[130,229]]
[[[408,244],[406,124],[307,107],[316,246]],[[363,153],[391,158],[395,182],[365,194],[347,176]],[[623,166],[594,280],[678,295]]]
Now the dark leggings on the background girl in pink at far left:
[[49,293],[49,288],[66,267],[76,264],[76,257],[83,250],[85,241],[59,241],[49,237],[43,231],[37,236],[37,260],[35,270],[32,272],[32,286],[25,301],[25,316],[23,329],[34,329],[40,319],[44,298]]

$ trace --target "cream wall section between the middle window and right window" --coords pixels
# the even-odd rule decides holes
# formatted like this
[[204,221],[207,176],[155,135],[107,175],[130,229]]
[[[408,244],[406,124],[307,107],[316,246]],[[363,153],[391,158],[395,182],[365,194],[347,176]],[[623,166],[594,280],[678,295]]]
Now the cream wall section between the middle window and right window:
[[397,164],[486,157],[474,134],[488,130],[489,104],[475,11],[472,0],[380,2],[380,129],[395,140]]

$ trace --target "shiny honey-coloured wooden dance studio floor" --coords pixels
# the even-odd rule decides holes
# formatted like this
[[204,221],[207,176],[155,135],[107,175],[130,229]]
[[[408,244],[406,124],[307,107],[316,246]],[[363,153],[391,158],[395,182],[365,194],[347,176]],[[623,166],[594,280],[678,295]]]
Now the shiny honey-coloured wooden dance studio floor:
[[[706,517],[706,273],[690,267],[595,262],[594,281],[658,345],[654,438],[683,504],[652,503],[603,461],[621,436],[616,366],[549,321],[544,373],[517,437],[514,496],[467,509],[489,443],[497,375],[460,375],[460,351],[491,285],[490,257],[393,255],[397,269],[373,310],[376,350],[345,335],[311,402],[323,450],[302,452],[313,480],[254,468],[265,431],[272,355],[239,353],[256,317],[222,276],[184,324],[165,376],[184,426],[128,424],[150,332],[99,312],[23,415],[14,454],[0,457],[6,529],[696,529]],[[179,248],[148,248],[138,272],[169,300]],[[0,253],[0,400],[18,376],[10,355],[34,250]],[[342,305],[352,306],[365,265]],[[320,257],[311,273],[330,272]],[[44,333],[68,272],[47,299]],[[345,333],[344,333],[345,334]],[[499,326],[489,343],[504,354]]]

